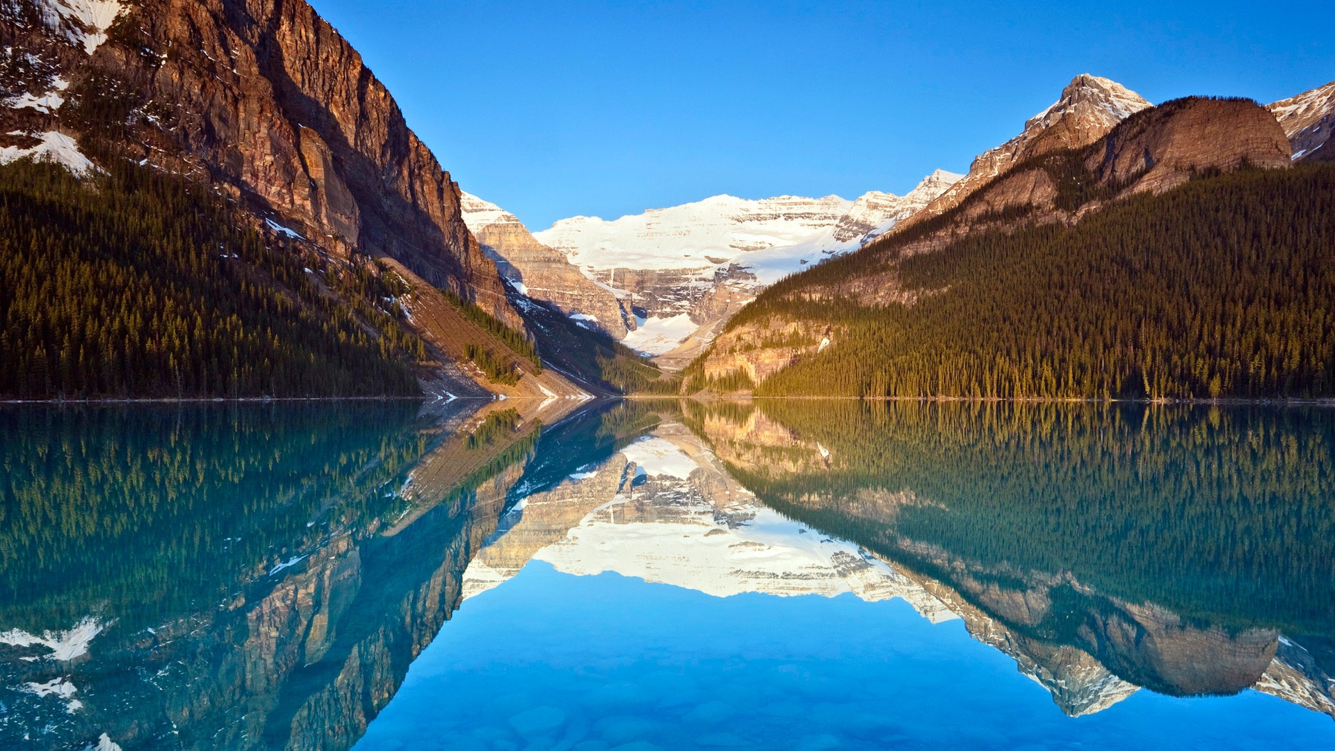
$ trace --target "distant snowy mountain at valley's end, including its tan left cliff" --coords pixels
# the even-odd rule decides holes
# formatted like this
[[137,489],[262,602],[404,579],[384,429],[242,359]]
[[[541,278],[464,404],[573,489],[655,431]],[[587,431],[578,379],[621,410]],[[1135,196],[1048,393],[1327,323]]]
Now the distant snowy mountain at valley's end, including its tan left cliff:
[[677,350],[661,362],[680,367],[761,289],[861,247],[956,179],[937,170],[904,196],[873,191],[852,202],[717,195],[611,222],[562,219],[537,234],[466,195],[465,219],[502,275],[530,298],[642,353]]

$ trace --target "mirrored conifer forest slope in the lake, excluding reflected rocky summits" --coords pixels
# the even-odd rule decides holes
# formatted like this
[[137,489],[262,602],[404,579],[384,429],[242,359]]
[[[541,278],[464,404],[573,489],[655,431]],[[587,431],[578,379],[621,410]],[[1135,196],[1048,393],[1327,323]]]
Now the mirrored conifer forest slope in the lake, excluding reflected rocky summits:
[[[741,424],[752,409],[685,406],[706,436],[706,414]],[[924,551],[975,579],[1071,572],[1104,595],[1211,623],[1335,629],[1330,410],[785,400],[758,409],[797,441],[712,438],[746,488],[945,581],[960,571]],[[740,452],[753,452],[752,469]]]

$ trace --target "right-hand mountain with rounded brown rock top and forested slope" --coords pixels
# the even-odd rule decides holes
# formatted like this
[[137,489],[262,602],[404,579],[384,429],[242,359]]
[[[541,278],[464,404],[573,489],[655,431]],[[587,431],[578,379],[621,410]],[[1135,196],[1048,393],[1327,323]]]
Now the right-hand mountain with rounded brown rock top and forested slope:
[[1141,110],[770,287],[692,365],[690,388],[1327,396],[1335,330],[1318,290],[1335,285],[1320,261],[1335,175],[1290,156],[1251,100]]

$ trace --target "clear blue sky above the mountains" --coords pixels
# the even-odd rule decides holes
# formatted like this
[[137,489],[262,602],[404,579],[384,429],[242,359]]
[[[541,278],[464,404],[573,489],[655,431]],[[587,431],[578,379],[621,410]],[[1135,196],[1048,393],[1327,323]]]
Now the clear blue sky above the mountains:
[[1323,3],[312,4],[463,190],[533,230],[720,192],[904,192],[1080,72],[1156,103],[1335,79]]

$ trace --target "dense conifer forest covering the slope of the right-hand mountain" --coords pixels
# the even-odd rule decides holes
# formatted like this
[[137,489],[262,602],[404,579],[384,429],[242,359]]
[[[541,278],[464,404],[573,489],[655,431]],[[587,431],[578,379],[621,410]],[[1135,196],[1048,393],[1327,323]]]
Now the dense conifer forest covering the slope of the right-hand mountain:
[[[916,237],[832,259],[744,309],[732,329],[777,315],[836,331],[756,393],[1335,396],[1335,167],[1200,175],[1073,227],[1021,224],[901,254]],[[876,307],[805,297],[886,269],[926,294]]]

